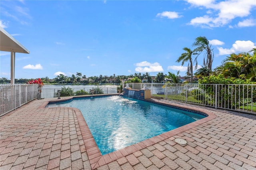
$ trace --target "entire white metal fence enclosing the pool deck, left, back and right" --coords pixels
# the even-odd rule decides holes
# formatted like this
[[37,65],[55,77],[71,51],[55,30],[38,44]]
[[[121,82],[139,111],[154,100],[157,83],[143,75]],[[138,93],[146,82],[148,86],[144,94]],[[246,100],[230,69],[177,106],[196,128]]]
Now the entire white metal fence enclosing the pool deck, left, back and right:
[[[129,83],[129,86],[142,89],[144,84],[153,97],[256,114],[256,85]],[[117,93],[116,86],[43,88],[39,93],[38,85],[0,84],[0,116],[36,98],[58,97],[58,90],[63,97],[90,95],[92,89],[94,94]]]

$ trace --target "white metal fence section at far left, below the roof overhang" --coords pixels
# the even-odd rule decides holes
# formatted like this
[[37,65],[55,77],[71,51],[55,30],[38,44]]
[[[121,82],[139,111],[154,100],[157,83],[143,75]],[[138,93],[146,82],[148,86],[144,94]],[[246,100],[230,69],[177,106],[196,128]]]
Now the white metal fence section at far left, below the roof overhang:
[[0,84],[0,116],[36,99],[38,85]]

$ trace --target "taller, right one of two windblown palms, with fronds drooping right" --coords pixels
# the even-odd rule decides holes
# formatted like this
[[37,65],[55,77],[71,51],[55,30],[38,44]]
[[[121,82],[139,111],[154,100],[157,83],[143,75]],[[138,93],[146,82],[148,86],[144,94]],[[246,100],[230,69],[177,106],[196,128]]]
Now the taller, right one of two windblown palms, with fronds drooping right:
[[212,62],[213,62],[213,58],[214,58],[214,53],[213,53],[213,49],[211,49],[211,46],[209,41],[207,40],[206,37],[198,37],[196,38],[196,41],[193,43],[192,46],[196,46],[197,48],[195,49],[195,51],[206,51],[206,55],[207,57],[204,57],[204,67],[207,67],[207,69],[209,69],[210,71],[212,71]]

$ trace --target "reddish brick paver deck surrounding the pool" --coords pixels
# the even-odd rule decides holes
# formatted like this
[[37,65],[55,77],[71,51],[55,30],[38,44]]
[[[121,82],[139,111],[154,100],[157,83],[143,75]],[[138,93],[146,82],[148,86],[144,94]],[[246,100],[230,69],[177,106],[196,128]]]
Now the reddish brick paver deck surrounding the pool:
[[44,108],[50,100],[0,118],[1,170],[256,170],[255,115],[161,100],[210,116],[102,156],[80,111]]

